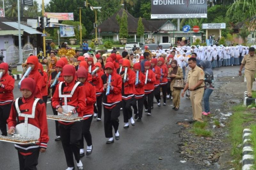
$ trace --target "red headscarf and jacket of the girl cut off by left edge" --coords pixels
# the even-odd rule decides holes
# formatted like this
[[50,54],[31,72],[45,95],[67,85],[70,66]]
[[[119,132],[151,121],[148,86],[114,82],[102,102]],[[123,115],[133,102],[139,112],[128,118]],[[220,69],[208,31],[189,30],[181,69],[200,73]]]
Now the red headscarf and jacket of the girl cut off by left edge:
[[1,78],[2,85],[0,86],[0,106],[9,104],[13,101],[13,93],[14,89],[14,78],[8,74],[8,64],[1,63],[0,68],[5,70],[5,74]]

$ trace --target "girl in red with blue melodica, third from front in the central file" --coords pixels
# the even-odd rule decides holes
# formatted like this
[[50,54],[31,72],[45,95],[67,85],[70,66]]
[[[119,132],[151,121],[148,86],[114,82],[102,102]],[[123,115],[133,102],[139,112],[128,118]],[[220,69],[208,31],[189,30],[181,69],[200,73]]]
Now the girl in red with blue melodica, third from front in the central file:
[[[144,83],[145,83],[145,75],[140,71],[140,63],[135,63],[133,65],[134,71],[135,73],[137,71],[139,71],[139,82],[138,85],[135,85],[135,99],[138,101],[138,108],[136,106],[136,108],[134,109],[135,111],[135,116],[134,119],[137,119],[137,122],[141,121],[142,118],[142,112],[143,112],[143,103],[144,103],[144,96],[145,96],[145,92],[144,92]],[[135,80],[136,81],[136,80]],[[137,109],[137,110],[136,110]]]

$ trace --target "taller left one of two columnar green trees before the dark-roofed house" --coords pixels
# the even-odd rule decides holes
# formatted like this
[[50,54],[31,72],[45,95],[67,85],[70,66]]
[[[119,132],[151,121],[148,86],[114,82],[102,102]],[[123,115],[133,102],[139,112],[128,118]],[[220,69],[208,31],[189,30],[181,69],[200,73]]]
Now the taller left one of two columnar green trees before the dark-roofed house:
[[[116,20],[119,24],[119,37],[120,38],[127,38],[128,37],[128,21],[127,21],[127,13],[125,10],[123,10],[123,15],[120,17],[119,15],[116,15]],[[124,41],[123,41],[124,44]]]

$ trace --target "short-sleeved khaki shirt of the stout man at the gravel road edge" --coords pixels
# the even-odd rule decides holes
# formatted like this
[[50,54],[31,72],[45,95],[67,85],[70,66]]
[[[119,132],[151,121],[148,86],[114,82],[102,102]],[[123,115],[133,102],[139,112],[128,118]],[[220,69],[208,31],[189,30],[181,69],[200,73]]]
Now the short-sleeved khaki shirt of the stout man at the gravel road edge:
[[[188,88],[194,87],[199,80],[204,80],[204,70],[196,66],[194,69],[188,72],[188,80],[187,80]],[[204,82],[198,87],[203,87],[203,86],[204,86]]]

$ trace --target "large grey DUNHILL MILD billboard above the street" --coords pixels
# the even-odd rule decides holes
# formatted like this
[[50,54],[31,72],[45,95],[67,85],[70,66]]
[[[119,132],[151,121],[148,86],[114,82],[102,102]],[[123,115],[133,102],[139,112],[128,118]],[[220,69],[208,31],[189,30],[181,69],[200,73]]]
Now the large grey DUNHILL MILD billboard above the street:
[[151,0],[151,19],[207,18],[207,0]]

